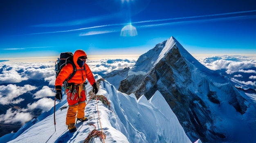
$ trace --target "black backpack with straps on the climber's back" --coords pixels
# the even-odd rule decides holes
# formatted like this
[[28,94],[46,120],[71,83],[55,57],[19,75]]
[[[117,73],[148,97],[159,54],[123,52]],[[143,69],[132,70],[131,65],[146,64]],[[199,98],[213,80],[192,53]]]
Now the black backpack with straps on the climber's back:
[[55,62],[56,77],[58,77],[58,74],[61,72],[61,69],[65,65],[67,65],[67,63],[70,63],[73,66],[73,73],[68,77],[67,80],[70,80],[74,76],[74,74],[76,73],[76,66],[74,64],[73,57],[74,55],[72,52],[61,53],[60,58],[58,58],[58,60]]

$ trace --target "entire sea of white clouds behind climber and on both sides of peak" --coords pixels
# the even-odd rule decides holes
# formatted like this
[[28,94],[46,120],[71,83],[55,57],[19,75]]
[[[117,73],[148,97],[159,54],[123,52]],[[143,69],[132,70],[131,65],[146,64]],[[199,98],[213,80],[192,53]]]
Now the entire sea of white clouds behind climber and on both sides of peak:
[[[256,87],[256,57],[196,58],[207,68]],[[136,61],[137,59],[101,59],[88,60],[86,63],[94,74],[103,76],[113,70],[132,68]],[[0,105],[12,105],[0,114],[0,123],[25,124],[35,117],[32,113],[34,110],[45,112],[54,106],[54,68],[55,61],[0,62]]]

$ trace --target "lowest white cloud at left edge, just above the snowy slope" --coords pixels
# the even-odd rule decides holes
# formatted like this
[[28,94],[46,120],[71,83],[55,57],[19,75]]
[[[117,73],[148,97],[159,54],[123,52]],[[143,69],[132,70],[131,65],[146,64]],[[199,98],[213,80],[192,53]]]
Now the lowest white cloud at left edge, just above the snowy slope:
[[22,112],[21,110],[12,110],[11,108],[7,110],[6,114],[0,115],[0,122],[4,123],[22,123],[24,125],[32,119],[32,116],[28,112]]

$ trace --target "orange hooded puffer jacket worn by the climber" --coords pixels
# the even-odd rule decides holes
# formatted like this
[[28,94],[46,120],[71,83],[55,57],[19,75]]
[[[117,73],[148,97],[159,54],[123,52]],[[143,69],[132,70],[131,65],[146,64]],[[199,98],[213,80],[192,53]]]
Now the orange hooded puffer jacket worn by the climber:
[[[86,53],[83,50],[77,50],[74,53],[74,64],[76,66],[76,73],[74,74],[74,76],[68,80],[68,83],[74,83],[74,84],[83,84],[86,80],[86,78],[88,79],[88,81],[90,82],[90,84],[94,84],[95,79],[93,77],[92,71],[90,70],[89,66],[87,64],[84,64],[85,66],[85,70],[79,67],[79,65],[77,64],[77,60],[79,57],[81,56],[87,56]],[[56,86],[62,87],[63,82],[68,79],[68,77],[73,73],[73,66],[72,64],[68,63],[66,66],[64,66],[61,69],[61,72],[59,73],[58,77],[56,77],[56,81],[55,81],[55,88]],[[57,88],[56,88],[57,89]]]

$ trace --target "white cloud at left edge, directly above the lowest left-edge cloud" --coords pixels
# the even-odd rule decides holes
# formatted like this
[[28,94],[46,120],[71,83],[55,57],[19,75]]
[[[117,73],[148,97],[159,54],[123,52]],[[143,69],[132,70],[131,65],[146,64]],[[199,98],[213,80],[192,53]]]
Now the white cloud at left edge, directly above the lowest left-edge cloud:
[[6,105],[9,103],[18,103],[18,101],[22,101],[22,99],[18,99],[13,101],[14,98],[22,95],[31,90],[35,90],[35,86],[24,85],[24,86],[16,86],[13,84],[8,84],[7,86],[0,86],[0,104]]

